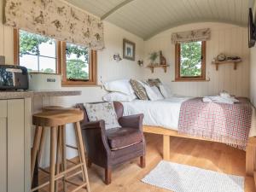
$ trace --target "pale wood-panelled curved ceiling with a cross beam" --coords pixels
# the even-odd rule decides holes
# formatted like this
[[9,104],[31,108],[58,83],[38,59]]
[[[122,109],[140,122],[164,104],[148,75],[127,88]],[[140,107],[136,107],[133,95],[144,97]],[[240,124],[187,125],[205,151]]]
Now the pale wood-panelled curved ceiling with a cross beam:
[[66,0],[102,20],[148,39],[168,28],[217,21],[247,26],[255,0]]

